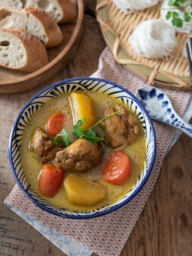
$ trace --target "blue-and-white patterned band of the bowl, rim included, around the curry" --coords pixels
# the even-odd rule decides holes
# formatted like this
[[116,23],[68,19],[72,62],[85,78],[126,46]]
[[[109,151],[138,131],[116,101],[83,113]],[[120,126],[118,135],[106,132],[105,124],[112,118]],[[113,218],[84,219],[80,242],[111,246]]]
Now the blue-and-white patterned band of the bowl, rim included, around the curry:
[[[40,194],[37,194],[35,190],[32,189],[29,182],[26,179],[25,172],[21,165],[21,156],[20,156],[20,145],[25,132],[25,128],[28,125],[31,118],[35,115],[36,111],[41,108],[47,101],[55,98],[56,96],[72,93],[72,91],[79,90],[92,90],[92,91],[101,91],[102,93],[112,95],[115,98],[121,99],[123,104],[127,105],[130,110],[132,110],[136,116],[139,118],[140,123],[142,124],[145,139],[146,139],[146,154],[145,154],[145,163],[142,170],[142,175],[139,175],[139,179],[136,184],[128,191],[128,193],[122,197],[117,202],[102,207],[101,209],[91,210],[91,211],[70,211],[69,209],[57,208],[53,204],[44,200]],[[72,78],[64,81],[56,82],[50,87],[41,90],[20,111],[20,114],[17,117],[17,120],[14,122],[14,126],[11,130],[11,136],[9,141],[9,161],[11,164],[11,169],[14,175],[17,184],[26,194],[26,196],[31,200],[35,205],[44,209],[47,212],[50,212],[54,215],[59,215],[66,218],[95,218],[109,212],[113,212],[116,209],[119,209],[121,206],[129,202],[142,186],[147,181],[148,176],[151,173],[152,167],[154,165],[154,159],[156,154],[156,139],[154,133],[154,127],[151,123],[151,119],[148,116],[145,108],[142,107],[141,103],[132,93],[120,87],[117,84],[112,83],[111,81],[106,81],[104,79],[98,78]]]

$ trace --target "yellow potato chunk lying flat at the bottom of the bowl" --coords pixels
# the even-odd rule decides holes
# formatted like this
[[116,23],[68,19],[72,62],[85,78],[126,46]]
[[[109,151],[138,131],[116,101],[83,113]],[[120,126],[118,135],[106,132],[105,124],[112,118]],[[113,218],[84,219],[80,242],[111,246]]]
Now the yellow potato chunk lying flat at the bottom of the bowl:
[[66,177],[64,188],[69,200],[79,206],[94,206],[102,202],[106,196],[105,187],[76,174]]

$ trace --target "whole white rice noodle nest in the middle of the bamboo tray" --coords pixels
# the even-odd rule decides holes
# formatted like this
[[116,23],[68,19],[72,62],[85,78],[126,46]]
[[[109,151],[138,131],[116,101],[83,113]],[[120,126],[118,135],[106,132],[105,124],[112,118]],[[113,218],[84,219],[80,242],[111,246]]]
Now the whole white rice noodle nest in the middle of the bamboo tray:
[[133,51],[145,58],[166,59],[177,44],[175,30],[160,19],[140,23],[128,40]]

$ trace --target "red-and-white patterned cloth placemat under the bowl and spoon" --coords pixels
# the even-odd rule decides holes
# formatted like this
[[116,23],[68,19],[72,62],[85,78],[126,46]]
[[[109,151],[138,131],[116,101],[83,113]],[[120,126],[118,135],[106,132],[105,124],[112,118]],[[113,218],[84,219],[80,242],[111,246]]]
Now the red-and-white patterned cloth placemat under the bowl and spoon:
[[[119,66],[108,48],[105,48],[99,59],[98,71],[91,77],[113,81],[133,94],[139,87],[146,85]],[[164,91],[171,99],[175,111],[185,120],[190,120],[192,115],[191,93]],[[87,220],[61,218],[35,206],[26,198],[17,184],[6,198],[5,204],[69,256],[87,256],[93,252],[99,255],[119,255],[151,194],[163,157],[180,135],[171,126],[156,121],[153,123],[157,137],[157,156],[154,168],[139,194],[117,211]]]

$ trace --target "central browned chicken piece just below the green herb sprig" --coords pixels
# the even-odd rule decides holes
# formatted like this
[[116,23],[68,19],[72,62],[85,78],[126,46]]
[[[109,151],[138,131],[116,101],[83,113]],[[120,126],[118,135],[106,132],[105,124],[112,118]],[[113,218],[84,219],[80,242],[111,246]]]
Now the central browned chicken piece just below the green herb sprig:
[[69,147],[56,153],[55,164],[66,172],[84,172],[100,163],[97,144],[77,139]]

